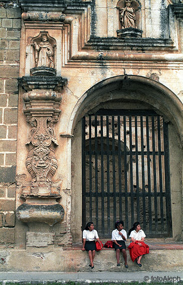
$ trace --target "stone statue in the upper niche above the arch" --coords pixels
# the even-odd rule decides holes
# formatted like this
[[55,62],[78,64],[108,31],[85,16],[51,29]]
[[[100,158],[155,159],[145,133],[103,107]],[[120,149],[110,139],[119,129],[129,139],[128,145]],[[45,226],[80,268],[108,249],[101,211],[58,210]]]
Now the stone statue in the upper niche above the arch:
[[120,9],[120,22],[122,29],[135,27],[135,10],[131,7],[131,0],[125,1],[125,8]]

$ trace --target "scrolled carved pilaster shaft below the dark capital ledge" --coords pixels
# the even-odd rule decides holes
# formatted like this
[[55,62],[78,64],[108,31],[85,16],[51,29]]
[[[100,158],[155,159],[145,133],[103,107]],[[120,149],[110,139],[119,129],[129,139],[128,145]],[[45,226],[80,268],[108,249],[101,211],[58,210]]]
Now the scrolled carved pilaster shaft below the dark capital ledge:
[[[27,121],[32,126],[26,143],[29,146],[26,167],[31,174],[34,191],[40,187],[49,187],[58,167],[55,156],[55,147],[58,146],[58,142],[53,126],[60,115],[60,110],[57,109],[60,102],[39,101],[40,92],[41,90],[29,92],[33,93],[37,101],[26,101],[24,110]],[[48,93],[49,90],[42,90],[41,96],[46,94],[45,96],[50,97],[51,94]],[[55,92],[55,94],[54,100],[59,101],[60,93]],[[29,100],[28,93],[24,94],[24,100]]]

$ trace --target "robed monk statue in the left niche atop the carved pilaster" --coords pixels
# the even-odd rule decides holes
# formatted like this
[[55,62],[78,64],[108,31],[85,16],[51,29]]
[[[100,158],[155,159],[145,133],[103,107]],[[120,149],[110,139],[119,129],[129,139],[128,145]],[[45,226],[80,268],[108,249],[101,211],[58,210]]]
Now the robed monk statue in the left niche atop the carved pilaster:
[[35,65],[38,66],[46,66],[50,68],[54,68],[53,55],[54,50],[51,43],[48,41],[48,37],[46,34],[41,35],[41,42],[37,44],[33,43],[35,48]]

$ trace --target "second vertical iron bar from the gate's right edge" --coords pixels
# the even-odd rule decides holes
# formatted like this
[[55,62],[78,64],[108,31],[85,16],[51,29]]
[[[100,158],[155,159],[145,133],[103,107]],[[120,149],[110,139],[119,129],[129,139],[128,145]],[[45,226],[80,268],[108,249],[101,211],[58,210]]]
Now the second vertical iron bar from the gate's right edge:
[[161,233],[163,233],[164,232],[164,221],[163,221],[163,196],[162,196],[161,130],[160,130],[160,117],[159,116],[157,116],[157,139],[158,139]]

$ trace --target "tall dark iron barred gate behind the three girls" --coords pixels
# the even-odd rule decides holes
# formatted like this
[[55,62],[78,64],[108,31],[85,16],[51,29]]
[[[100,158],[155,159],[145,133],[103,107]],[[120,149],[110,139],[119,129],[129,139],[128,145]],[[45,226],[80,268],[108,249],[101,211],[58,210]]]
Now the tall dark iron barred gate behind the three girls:
[[168,128],[153,111],[99,110],[82,119],[82,223],[110,237],[117,220],[171,237]]

